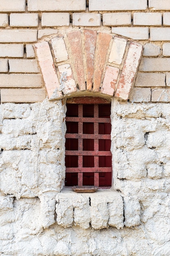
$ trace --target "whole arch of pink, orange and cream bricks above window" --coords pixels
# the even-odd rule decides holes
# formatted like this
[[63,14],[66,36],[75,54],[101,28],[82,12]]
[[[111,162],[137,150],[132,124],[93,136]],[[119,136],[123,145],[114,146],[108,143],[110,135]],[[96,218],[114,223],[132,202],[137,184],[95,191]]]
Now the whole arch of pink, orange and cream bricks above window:
[[143,47],[84,29],[36,43],[35,50],[49,99],[88,91],[127,100]]

